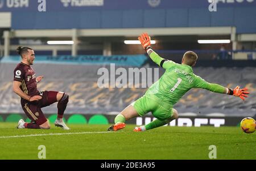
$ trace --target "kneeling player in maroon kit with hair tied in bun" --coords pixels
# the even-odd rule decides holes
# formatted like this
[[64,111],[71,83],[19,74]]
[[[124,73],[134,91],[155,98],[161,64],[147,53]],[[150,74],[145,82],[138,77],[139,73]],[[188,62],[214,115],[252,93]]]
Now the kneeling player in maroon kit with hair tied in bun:
[[20,119],[17,128],[49,129],[49,121],[44,116],[41,108],[58,101],[55,126],[69,130],[69,127],[63,122],[63,114],[68,104],[68,94],[56,91],[39,92],[37,84],[43,79],[43,76],[36,77],[35,71],[31,67],[35,60],[34,50],[19,46],[17,52],[22,60],[14,70],[13,91],[21,97],[22,109],[27,117],[31,119],[31,123],[26,123],[23,119]]

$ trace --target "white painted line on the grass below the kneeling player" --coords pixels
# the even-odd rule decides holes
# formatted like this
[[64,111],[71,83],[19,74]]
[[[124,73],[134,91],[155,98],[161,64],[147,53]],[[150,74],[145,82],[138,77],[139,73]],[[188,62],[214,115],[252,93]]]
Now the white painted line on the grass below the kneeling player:
[[106,134],[112,132],[67,132],[67,133],[50,133],[50,134],[30,134],[30,135],[14,135],[14,136],[0,136],[0,139],[5,138],[22,138],[22,137],[30,137],[30,136],[49,136],[49,135],[73,135],[73,134]]

